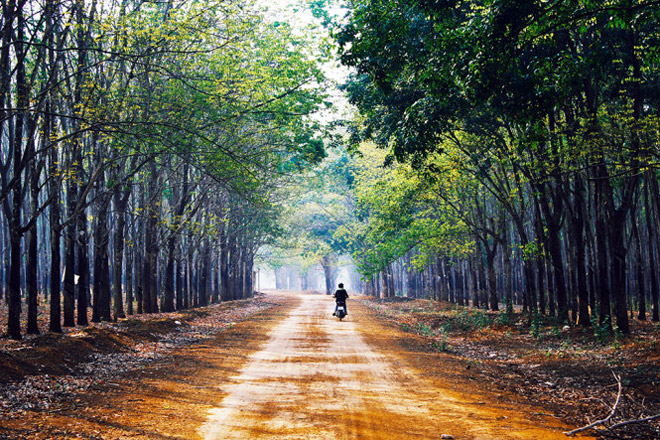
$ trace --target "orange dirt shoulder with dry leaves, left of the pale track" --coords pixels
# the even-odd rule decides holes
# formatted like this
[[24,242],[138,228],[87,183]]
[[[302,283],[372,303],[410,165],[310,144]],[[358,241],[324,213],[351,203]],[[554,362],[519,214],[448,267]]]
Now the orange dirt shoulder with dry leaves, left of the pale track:
[[5,341],[0,439],[198,438],[222,384],[295,303],[259,296]]

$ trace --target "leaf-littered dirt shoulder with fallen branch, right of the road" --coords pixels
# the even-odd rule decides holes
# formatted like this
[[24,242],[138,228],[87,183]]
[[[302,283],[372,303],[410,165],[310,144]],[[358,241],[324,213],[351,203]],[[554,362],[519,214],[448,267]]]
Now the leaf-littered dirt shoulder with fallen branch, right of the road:
[[[507,402],[543,408],[543,416],[571,426],[607,417],[623,392],[612,423],[660,413],[660,326],[634,320],[632,332],[598,334],[598,329],[526,321],[520,314],[487,313],[424,299],[361,298],[374,316],[408,338],[398,343],[417,366],[460,389]],[[594,434],[591,430],[588,433]],[[660,438],[660,419],[630,424],[604,438]]]

